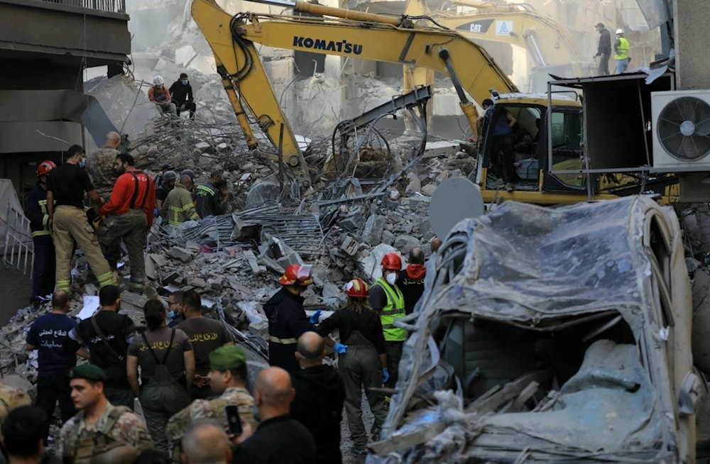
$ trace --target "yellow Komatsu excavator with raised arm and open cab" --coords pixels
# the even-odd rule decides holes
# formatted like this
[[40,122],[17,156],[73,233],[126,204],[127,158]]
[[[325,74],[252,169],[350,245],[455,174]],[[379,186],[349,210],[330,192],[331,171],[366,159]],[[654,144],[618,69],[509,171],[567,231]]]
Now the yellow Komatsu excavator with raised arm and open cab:
[[[310,15],[246,12],[232,15],[214,0],[193,0],[192,17],[212,48],[217,71],[249,148],[258,145],[250,126],[251,121],[256,121],[278,151],[271,159],[290,166],[302,187],[310,185],[307,164],[273,93],[255,44],[439,72],[451,79],[461,111],[474,134],[479,118],[469,96],[479,103],[495,99],[489,119],[514,118],[517,122],[515,170],[520,182],[513,192],[501,189],[497,124],[484,124],[479,134],[476,183],[486,202],[515,199],[564,204],[616,197],[604,193],[598,177],[577,174],[584,166],[582,108],[576,93],[521,94],[484,48],[457,31],[420,26],[408,16],[344,10],[306,1],[258,3]],[[567,174],[555,175],[552,171]]]

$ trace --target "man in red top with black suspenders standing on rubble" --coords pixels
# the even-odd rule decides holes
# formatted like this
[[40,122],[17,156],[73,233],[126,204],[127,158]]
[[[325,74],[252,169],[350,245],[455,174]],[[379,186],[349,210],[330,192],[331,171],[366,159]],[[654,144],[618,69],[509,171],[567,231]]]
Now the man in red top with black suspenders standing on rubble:
[[124,243],[131,263],[129,291],[143,293],[146,281],[146,233],[153,225],[155,209],[155,184],[151,176],[134,167],[136,163],[128,153],[116,156],[114,170],[119,176],[111,192],[111,198],[99,207],[99,216],[106,216],[97,229],[99,243],[116,270],[120,256],[120,244]]

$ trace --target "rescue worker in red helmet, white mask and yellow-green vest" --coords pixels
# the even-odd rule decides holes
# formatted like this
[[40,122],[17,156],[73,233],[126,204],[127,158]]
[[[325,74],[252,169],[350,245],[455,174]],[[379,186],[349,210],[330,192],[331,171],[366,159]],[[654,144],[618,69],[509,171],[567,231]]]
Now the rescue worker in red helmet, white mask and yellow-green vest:
[[407,331],[395,327],[395,319],[406,316],[404,296],[397,287],[397,277],[402,269],[402,258],[391,251],[382,258],[382,277],[370,287],[369,302],[372,309],[380,314],[382,332],[385,337],[387,353],[387,380],[383,383],[388,388],[397,385],[397,368],[402,358],[402,346],[407,339]]

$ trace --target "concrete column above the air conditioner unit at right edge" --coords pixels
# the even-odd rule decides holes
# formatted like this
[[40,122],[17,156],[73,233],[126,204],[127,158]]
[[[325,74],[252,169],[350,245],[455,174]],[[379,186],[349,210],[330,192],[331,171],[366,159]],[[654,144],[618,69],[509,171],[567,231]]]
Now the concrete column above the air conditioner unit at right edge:
[[707,0],[674,1],[675,70],[679,90],[710,89],[710,9]]

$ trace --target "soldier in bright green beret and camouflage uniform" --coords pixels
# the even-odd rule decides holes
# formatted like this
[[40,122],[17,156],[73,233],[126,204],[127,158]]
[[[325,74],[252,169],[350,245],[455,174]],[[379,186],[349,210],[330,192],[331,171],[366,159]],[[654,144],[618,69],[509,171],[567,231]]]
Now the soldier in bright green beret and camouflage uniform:
[[[239,417],[256,430],[258,422],[253,417],[254,399],[246,390],[246,354],[241,346],[227,345],[209,353],[209,385],[219,396],[214,399],[195,399],[190,406],[182,409],[168,421],[165,429],[168,438],[179,443],[185,429],[196,419],[215,419],[219,424],[227,424],[224,407],[239,408]],[[173,458],[180,457],[180,448],[173,449]]]

